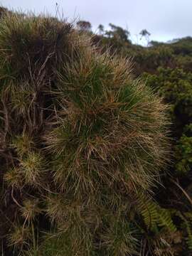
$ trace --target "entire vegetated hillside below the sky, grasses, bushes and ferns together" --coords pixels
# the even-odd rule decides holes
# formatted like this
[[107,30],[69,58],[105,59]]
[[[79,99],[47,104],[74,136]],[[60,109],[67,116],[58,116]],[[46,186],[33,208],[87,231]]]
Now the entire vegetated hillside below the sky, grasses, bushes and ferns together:
[[1,10],[2,255],[191,254],[191,50]]

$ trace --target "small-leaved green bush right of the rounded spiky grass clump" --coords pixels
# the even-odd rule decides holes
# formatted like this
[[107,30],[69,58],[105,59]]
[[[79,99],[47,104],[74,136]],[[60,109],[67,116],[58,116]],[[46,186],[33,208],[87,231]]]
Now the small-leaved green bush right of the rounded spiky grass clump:
[[175,163],[172,171],[191,178],[192,75],[178,68],[159,68],[156,75],[144,73],[143,77],[171,106]]

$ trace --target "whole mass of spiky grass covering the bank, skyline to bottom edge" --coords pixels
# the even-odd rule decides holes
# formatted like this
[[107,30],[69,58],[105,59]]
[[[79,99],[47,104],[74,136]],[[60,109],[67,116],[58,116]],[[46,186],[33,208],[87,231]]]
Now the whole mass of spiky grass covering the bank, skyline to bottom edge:
[[8,14],[0,48],[6,203],[32,234],[18,253],[138,255],[132,209],[168,153],[161,99],[55,18]]

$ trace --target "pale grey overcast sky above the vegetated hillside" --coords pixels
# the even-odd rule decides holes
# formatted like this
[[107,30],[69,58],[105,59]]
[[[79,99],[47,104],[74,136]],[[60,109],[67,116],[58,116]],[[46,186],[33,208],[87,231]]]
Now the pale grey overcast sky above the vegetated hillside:
[[55,16],[56,2],[68,20],[83,19],[93,30],[101,23],[128,28],[132,40],[146,28],[151,40],[168,41],[192,36],[192,0],[0,0],[9,9],[48,12]]

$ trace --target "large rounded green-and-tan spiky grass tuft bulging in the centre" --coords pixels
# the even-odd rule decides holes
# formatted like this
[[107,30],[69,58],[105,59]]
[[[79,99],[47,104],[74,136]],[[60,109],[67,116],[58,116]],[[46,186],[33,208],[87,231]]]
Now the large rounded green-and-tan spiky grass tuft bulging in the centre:
[[[58,127],[46,136],[55,181],[82,190],[101,182],[150,189],[166,159],[165,106],[129,75],[129,60],[86,50],[58,74]],[[161,114],[160,114],[161,113]],[[160,114],[160,116],[159,116]]]

